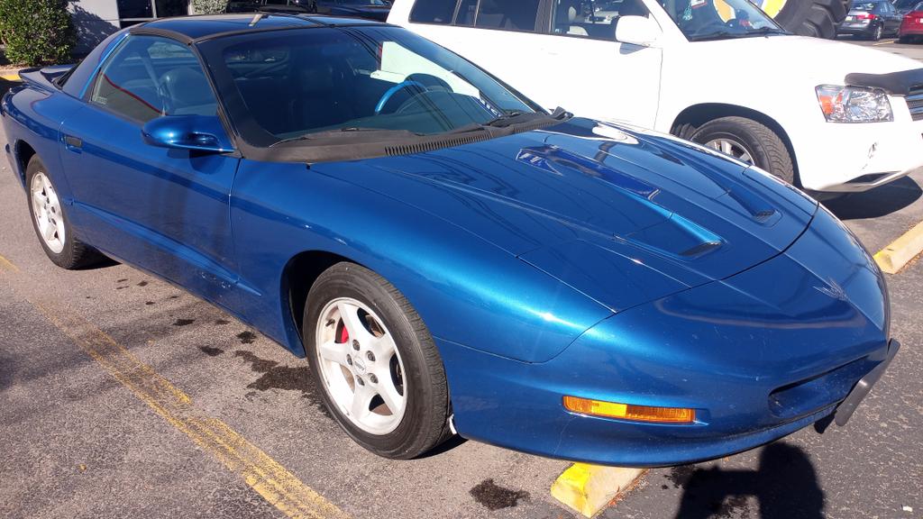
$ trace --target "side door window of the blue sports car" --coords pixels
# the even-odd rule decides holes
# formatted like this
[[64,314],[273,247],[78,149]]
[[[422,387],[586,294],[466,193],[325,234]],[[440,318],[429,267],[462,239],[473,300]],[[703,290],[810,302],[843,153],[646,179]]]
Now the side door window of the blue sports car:
[[90,103],[141,123],[161,115],[216,115],[218,103],[196,55],[156,36],[129,36],[102,66]]

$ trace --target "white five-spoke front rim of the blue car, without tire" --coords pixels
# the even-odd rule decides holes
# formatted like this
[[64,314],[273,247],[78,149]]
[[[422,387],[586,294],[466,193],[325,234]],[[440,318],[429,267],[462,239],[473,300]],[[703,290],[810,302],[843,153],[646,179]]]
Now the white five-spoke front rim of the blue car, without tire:
[[351,297],[330,301],[316,328],[321,383],[355,427],[385,435],[407,408],[401,354],[381,318]]

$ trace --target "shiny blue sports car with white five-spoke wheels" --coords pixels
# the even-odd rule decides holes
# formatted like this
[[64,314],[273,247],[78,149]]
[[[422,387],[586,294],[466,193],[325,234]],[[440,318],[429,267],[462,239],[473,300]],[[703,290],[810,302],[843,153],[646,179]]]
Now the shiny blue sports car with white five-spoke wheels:
[[383,456],[457,431],[705,460],[844,424],[898,348],[881,272],[813,199],[398,27],[166,18],[23,78],[6,153],[48,257],[125,261],[306,356]]

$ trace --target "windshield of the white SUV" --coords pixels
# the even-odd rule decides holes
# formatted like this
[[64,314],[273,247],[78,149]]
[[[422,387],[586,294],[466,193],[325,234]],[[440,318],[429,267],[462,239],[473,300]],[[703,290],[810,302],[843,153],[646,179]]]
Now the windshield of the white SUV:
[[660,0],[690,42],[785,34],[748,0]]

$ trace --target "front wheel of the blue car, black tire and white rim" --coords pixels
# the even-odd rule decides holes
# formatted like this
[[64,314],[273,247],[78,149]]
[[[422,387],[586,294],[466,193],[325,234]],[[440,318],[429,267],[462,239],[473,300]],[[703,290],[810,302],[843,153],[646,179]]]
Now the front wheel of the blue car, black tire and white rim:
[[448,434],[449,390],[426,325],[384,278],[353,263],[307,296],[306,353],[330,414],[378,455],[409,459]]

